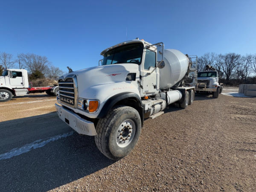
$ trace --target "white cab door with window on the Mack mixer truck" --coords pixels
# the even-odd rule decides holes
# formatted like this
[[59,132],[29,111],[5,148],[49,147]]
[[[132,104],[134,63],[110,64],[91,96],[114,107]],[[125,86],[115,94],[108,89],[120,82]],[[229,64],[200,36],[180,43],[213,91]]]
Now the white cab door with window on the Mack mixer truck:
[[[145,57],[143,64],[143,95],[151,95],[157,92],[157,71],[156,52],[145,49]],[[154,71],[153,71],[154,70]],[[151,74],[149,74],[151,73]]]

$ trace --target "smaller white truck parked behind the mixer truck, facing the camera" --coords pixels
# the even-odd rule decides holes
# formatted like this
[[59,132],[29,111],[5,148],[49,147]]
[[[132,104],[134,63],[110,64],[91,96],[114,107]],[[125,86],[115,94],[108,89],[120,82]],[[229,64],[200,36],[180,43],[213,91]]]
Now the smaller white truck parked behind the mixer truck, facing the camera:
[[220,83],[220,76],[222,76],[214,67],[210,65],[205,66],[205,71],[198,72],[198,80],[196,84],[196,91],[198,93],[212,94],[213,98],[218,98],[219,93],[222,92],[223,84]]

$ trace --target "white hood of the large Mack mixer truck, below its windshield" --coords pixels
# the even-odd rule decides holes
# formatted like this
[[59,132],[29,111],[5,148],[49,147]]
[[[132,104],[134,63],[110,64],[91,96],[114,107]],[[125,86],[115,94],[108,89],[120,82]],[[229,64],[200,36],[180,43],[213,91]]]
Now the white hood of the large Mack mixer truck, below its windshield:
[[[126,81],[128,73],[136,73],[138,79],[140,76],[139,65],[130,63],[90,67],[68,73],[63,76],[63,79],[67,75],[76,75],[79,97],[91,99],[95,98],[96,95],[99,96],[102,85],[104,85],[104,89],[108,88],[108,93],[105,92],[104,94],[113,94],[115,92],[113,87],[119,89],[120,86],[123,87],[125,84],[131,84],[132,81]],[[109,84],[109,86],[105,86],[105,84]],[[132,89],[134,90],[134,88],[133,86]],[[136,89],[136,92],[138,92],[137,86]]]

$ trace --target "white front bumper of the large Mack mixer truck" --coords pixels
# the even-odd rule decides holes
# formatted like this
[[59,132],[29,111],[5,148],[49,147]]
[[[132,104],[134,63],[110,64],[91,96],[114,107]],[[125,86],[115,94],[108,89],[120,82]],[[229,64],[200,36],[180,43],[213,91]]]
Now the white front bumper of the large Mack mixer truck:
[[57,110],[59,118],[67,123],[67,125],[73,128],[79,134],[90,136],[94,136],[97,134],[93,122],[82,119],[76,113],[68,111],[60,105],[55,104],[55,108]]

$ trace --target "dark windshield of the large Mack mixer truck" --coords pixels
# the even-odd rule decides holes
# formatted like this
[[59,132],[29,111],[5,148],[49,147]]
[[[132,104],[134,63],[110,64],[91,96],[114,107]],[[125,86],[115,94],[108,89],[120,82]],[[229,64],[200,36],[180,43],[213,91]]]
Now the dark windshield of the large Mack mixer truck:
[[106,52],[102,65],[118,64],[118,63],[134,63],[140,64],[143,52],[142,44],[127,44]]

